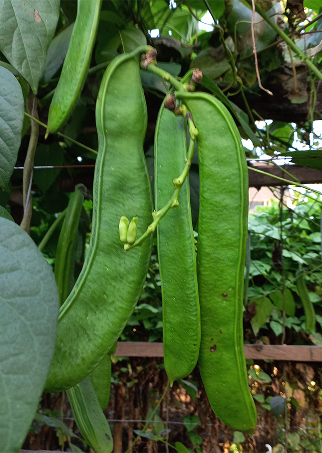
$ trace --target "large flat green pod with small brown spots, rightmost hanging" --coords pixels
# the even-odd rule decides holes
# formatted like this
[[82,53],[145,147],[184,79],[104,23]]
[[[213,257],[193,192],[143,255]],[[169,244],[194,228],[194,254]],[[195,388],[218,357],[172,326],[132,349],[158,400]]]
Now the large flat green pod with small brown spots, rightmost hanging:
[[247,241],[247,166],[228,110],[207,93],[179,94],[196,127],[200,206],[197,275],[201,312],[199,366],[215,414],[252,432],[256,408],[243,345]]

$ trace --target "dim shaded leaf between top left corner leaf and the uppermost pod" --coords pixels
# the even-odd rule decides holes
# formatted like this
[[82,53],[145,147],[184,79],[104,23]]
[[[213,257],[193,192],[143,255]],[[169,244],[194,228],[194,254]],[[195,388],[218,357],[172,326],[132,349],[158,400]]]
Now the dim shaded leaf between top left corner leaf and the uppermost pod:
[[62,65],[68,50],[73,27],[74,24],[69,25],[69,27],[65,28],[51,41],[41,76],[41,84],[47,84]]

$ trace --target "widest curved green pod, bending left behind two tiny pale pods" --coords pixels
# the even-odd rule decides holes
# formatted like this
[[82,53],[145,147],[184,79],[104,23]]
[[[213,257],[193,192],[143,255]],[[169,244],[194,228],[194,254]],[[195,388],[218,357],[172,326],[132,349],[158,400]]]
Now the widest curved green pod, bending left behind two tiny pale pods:
[[97,366],[121,334],[145,280],[152,237],[124,252],[119,220],[121,215],[138,216],[138,234],[152,220],[143,154],[147,114],[139,69],[139,56],[149,49],[140,47],[115,58],[101,83],[92,237],[82,272],[60,308],[47,391],[72,387]]

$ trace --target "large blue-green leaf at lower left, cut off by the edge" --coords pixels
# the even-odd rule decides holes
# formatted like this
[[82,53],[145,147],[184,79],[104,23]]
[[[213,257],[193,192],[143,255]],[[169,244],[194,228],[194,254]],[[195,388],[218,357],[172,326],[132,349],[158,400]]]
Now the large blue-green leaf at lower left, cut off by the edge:
[[30,236],[0,217],[0,451],[19,451],[54,352],[58,292]]

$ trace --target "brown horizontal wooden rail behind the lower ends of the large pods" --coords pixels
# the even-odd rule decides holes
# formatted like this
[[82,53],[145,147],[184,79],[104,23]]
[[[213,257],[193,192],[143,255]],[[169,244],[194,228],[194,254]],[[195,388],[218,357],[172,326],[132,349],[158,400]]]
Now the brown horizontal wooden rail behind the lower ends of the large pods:
[[[247,359],[292,360],[322,362],[322,346],[289,346],[275,344],[245,344]],[[120,341],[116,357],[163,357],[163,343]]]

